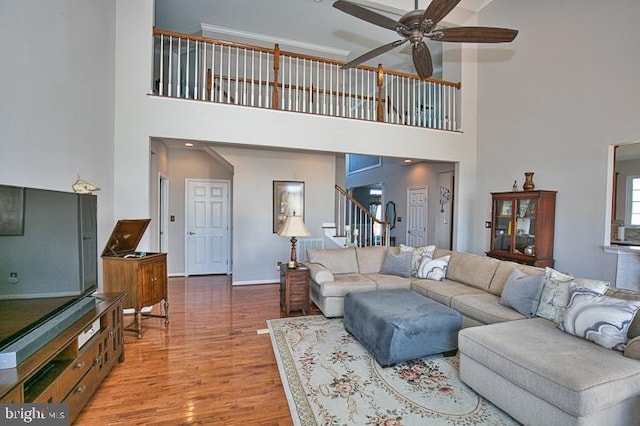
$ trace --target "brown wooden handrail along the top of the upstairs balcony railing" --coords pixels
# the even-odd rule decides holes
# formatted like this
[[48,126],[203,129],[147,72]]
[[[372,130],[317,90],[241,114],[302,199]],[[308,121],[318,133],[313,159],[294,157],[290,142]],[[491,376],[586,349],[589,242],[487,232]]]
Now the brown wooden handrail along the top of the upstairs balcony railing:
[[[276,58],[279,58],[280,56],[290,56],[290,57],[293,57],[293,58],[306,59],[306,60],[310,60],[310,61],[324,62],[324,63],[327,63],[327,64],[333,64],[333,65],[338,65],[338,66],[342,66],[342,65],[344,65],[346,63],[344,61],[336,61],[336,60],[333,60],[333,59],[321,58],[319,56],[304,55],[304,54],[300,54],[300,53],[296,53],[296,52],[289,52],[289,51],[285,51],[285,50],[280,50],[280,46],[278,46],[277,44],[275,45],[275,47],[273,49],[269,49],[269,48],[264,48],[264,47],[260,47],[260,46],[253,46],[253,45],[250,45],[250,44],[236,43],[236,42],[231,42],[231,41],[226,41],[226,40],[219,40],[219,39],[202,37],[202,36],[194,36],[194,35],[190,35],[190,34],[177,33],[177,32],[174,32],[174,31],[159,30],[157,28],[153,29],[153,35],[162,35],[162,36],[167,36],[167,37],[178,37],[178,38],[183,38],[183,39],[188,39],[188,40],[193,40],[193,41],[199,41],[199,42],[204,42],[204,43],[213,43],[213,44],[218,44],[218,45],[223,45],[223,46],[236,47],[238,49],[247,49],[247,50],[255,50],[255,51],[258,51],[258,52],[270,53],[270,54],[274,55],[274,67],[276,66],[276,62],[277,62]],[[379,73],[380,69],[382,69],[382,68],[381,68],[381,66],[370,67],[370,66],[366,66],[366,65],[359,65],[359,66],[355,67],[355,69],[360,69],[360,70],[372,71],[372,72]],[[429,78],[420,78],[419,76],[417,76],[415,74],[408,74],[408,73],[404,73],[404,72],[400,72],[400,71],[383,70],[383,74],[384,75],[395,75],[395,76],[398,76],[398,77],[410,78],[410,79],[418,80],[418,81],[428,81],[428,82],[432,82],[432,83],[441,84],[443,86],[455,87],[456,89],[460,89],[462,87],[462,83],[461,82],[455,83],[455,82],[446,81],[446,80],[439,80],[439,79],[435,79],[435,78],[431,78],[431,77],[429,77]],[[277,81],[277,79],[276,79],[276,81]]]

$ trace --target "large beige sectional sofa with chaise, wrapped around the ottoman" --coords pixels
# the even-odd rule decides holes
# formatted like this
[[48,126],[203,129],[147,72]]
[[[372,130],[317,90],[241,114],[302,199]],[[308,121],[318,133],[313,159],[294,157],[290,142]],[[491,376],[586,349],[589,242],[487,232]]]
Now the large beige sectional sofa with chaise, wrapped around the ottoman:
[[[410,288],[462,314],[461,379],[519,422],[640,424],[640,361],[633,354],[625,356],[568,334],[549,319],[526,318],[500,304],[514,269],[527,275],[544,269],[436,249],[434,258],[451,256],[444,281],[387,276],[379,273],[386,250],[309,250],[311,299],[325,316],[342,316],[348,292]],[[634,320],[632,328],[636,326],[640,318]],[[635,333],[640,334],[640,327]],[[627,350],[640,352],[639,346],[636,337]]]

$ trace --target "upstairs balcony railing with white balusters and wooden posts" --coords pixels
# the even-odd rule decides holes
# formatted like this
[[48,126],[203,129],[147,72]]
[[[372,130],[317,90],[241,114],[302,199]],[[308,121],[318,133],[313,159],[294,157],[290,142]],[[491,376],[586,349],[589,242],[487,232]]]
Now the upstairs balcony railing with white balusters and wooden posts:
[[460,83],[154,29],[153,93],[459,130]]

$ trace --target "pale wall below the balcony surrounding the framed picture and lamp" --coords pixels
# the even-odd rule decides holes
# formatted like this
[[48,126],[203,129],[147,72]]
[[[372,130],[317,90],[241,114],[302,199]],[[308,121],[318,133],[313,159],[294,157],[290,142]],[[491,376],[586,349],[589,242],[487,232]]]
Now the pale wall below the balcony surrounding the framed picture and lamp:
[[277,263],[288,261],[291,242],[273,233],[273,181],[302,181],[304,221],[310,238],[322,238],[333,220],[336,162],[332,154],[215,147],[234,167],[233,283],[280,280]]

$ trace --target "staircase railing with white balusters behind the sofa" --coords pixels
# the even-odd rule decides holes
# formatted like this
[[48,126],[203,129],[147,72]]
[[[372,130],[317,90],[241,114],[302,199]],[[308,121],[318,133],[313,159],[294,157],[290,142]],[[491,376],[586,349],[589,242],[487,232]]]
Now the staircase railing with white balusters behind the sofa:
[[376,218],[340,185],[335,188],[336,236],[345,237],[347,246],[389,246],[389,222]]

